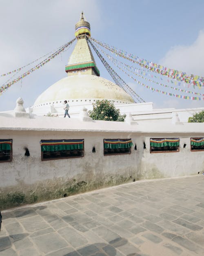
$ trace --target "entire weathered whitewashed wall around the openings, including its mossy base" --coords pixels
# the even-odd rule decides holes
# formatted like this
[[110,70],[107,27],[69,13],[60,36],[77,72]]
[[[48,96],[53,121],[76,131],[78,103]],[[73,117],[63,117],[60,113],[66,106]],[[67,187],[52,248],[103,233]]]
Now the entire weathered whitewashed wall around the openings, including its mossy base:
[[[197,136],[202,137],[203,134]],[[180,137],[180,152],[150,154],[150,137]],[[135,180],[197,174],[204,171],[204,151],[191,152],[190,137],[194,136],[137,131],[2,130],[1,138],[13,139],[13,160],[0,163],[0,208]],[[131,138],[137,150],[133,146],[131,154],[104,156],[105,138]],[[84,157],[41,161],[41,139],[84,139]],[[95,153],[92,153],[93,146]],[[24,147],[29,149],[29,157],[24,155]]]

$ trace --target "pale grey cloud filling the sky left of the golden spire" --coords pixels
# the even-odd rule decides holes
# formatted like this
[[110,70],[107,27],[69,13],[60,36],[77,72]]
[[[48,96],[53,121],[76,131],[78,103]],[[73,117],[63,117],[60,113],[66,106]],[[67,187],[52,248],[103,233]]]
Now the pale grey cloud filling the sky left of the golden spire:
[[[104,26],[95,0],[89,0],[88,4],[84,0],[0,1],[0,74],[22,67],[72,40],[82,10],[91,22],[91,31]],[[22,85],[20,82],[11,85],[0,96],[0,111],[13,109],[19,96],[23,97],[25,107],[32,105],[42,91],[67,75],[64,66],[69,54],[70,51],[62,53],[63,62],[59,55],[22,79]],[[40,61],[26,67],[23,72]],[[9,78],[0,77],[0,86]]]

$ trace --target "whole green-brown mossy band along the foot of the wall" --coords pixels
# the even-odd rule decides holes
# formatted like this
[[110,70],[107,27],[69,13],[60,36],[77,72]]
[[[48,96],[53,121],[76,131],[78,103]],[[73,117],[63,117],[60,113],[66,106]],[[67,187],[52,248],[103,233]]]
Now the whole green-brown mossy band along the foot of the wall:
[[164,175],[156,166],[145,166],[146,168],[135,168],[124,170],[118,169],[118,175],[111,171],[106,173],[84,172],[83,175],[74,176],[71,179],[67,177],[54,178],[53,180],[44,180],[28,185],[18,181],[18,186],[7,187],[0,190],[0,209],[9,209],[11,207],[23,204],[32,204],[57,198],[67,197],[94,189],[100,189],[108,186],[115,186],[135,180],[163,178]]

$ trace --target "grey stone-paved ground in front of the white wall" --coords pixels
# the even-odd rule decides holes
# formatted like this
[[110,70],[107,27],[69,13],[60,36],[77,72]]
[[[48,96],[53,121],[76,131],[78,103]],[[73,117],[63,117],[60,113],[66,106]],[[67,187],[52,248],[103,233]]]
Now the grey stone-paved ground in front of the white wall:
[[204,177],[133,182],[3,211],[0,256],[204,255]]

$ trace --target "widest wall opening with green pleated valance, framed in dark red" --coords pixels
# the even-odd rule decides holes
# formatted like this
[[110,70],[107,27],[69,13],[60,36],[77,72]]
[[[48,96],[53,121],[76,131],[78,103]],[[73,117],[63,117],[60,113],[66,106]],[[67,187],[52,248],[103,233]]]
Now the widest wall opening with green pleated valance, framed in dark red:
[[40,146],[42,161],[84,157],[84,139],[41,140]]

